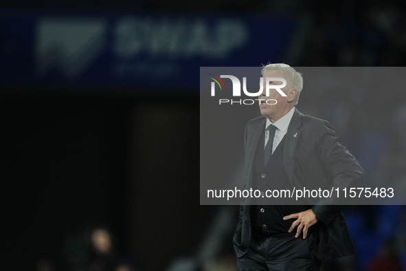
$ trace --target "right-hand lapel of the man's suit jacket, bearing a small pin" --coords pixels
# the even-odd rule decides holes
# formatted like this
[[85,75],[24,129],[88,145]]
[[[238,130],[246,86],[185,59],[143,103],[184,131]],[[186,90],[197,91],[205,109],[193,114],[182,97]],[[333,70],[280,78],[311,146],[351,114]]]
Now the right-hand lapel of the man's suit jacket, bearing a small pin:
[[284,168],[289,182],[293,184],[293,165],[295,164],[295,151],[302,131],[299,127],[302,125],[302,113],[295,107],[291,123],[285,135],[284,146]]

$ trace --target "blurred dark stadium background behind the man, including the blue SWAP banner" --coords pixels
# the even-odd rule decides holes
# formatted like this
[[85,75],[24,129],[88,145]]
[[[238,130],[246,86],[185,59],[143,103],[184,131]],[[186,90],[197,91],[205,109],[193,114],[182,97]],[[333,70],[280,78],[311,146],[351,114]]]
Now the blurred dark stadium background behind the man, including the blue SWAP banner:
[[[2,1],[0,270],[235,270],[238,208],[199,206],[199,67],[403,66],[405,15],[391,0]],[[351,106],[309,91],[300,109],[367,176],[406,181],[406,91],[359,91]],[[324,270],[406,270],[404,206],[345,213],[357,255]]]

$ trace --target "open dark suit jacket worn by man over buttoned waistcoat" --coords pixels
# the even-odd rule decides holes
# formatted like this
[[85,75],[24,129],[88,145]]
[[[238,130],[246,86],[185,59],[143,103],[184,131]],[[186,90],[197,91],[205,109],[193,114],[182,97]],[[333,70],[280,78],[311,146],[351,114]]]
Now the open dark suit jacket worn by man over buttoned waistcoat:
[[[253,158],[266,118],[250,120],[245,127],[245,187],[251,187]],[[296,136],[295,133],[297,133]],[[285,135],[284,169],[292,187],[354,187],[363,183],[364,172],[354,156],[343,147],[329,122],[306,116],[297,109]],[[240,205],[240,221],[234,235],[237,257],[249,248],[251,226],[249,198]],[[354,254],[350,232],[341,212],[343,198],[322,199],[312,209],[317,222],[317,259]],[[315,226],[315,225],[314,225]]]

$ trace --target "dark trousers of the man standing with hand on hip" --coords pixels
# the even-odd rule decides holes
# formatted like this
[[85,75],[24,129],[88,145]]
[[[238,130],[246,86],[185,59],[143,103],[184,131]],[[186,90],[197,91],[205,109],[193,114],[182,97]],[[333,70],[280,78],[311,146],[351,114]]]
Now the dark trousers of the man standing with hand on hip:
[[312,233],[303,239],[275,238],[251,233],[247,253],[237,259],[237,271],[319,271],[322,261],[315,259],[317,236]]

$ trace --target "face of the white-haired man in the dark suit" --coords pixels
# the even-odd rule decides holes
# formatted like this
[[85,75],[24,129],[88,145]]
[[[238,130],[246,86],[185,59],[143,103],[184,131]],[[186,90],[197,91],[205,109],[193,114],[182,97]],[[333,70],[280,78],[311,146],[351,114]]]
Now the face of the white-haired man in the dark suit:
[[[289,110],[292,108],[293,102],[288,102],[289,98],[289,92],[291,92],[291,89],[293,88],[289,80],[286,80],[286,76],[282,74],[280,71],[269,71],[266,74],[264,74],[264,87],[262,94],[259,96],[259,99],[263,99],[259,101],[259,107],[262,116],[265,116],[267,118],[270,118],[271,120],[278,120],[284,116]],[[284,92],[284,94],[288,95],[288,97],[282,96],[276,89],[269,89],[269,96],[267,95],[267,77],[280,77],[284,78],[286,80],[286,86],[281,88],[281,90]],[[269,83],[270,85],[282,85],[281,81],[271,81]],[[289,98],[289,99],[288,99]],[[273,100],[269,100],[273,99]],[[266,100],[269,100],[269,104],[274,104],[276,100],[275,105],[268,105]],[[289,109],[289,110],[288,110]],[[287,110],[287,111],[286,111]]]

